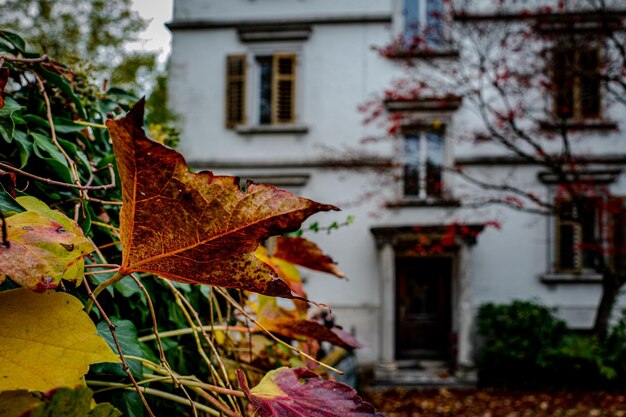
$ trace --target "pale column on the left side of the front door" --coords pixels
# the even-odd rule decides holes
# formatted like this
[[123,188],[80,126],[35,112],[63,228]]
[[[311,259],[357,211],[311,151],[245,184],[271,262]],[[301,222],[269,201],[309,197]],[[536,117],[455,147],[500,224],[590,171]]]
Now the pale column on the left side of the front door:
[[384,241],[378,247],[380,274],[380,370],[394,370],[395,363],[395,293],[396,262],[391,241]]

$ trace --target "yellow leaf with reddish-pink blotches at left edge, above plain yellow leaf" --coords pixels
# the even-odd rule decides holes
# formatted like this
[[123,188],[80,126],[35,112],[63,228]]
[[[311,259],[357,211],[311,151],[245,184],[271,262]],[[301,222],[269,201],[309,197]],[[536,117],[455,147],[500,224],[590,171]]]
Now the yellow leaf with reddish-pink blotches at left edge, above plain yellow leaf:
[[61,279],[80,282],[83,256],[93,251],[82,229],[34,197],[18,197],[28,211],[7,218],[8,246],[0,246],[0,282],[8,276],[34,291],[55,288]]

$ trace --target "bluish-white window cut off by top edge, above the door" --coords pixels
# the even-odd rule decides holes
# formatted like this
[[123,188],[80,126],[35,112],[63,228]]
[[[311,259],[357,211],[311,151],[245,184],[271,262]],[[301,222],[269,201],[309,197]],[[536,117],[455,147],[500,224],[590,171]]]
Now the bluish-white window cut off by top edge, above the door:
[[440,48],[443,0],[404,0],[404,39],[411,46]]

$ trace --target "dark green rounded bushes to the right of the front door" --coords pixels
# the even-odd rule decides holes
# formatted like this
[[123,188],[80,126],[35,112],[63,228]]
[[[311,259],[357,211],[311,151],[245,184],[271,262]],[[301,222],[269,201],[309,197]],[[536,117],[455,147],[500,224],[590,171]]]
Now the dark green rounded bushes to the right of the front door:
[[479,375],[485,385],[515,388],[593,388],[625,381],[626,319],[606,340],[568,330],[534,302],[484,304],[477,317],[483,338]]

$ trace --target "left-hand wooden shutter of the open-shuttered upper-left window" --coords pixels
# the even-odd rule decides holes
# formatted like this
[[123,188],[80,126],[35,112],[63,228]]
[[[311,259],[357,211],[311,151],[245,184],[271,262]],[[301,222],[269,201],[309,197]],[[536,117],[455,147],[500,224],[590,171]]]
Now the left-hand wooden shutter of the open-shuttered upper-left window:
[[245,123],[246,56],[226,57],[226,127]]

